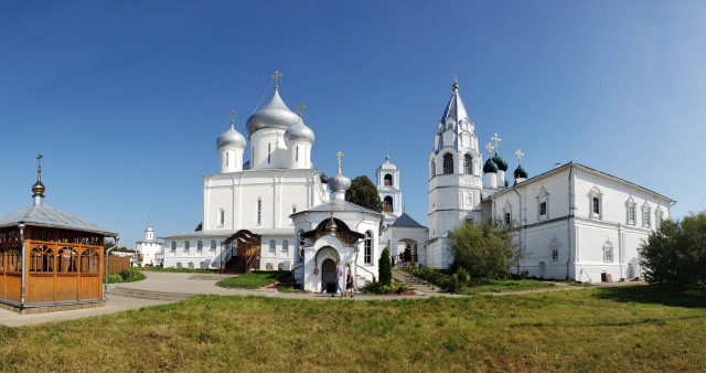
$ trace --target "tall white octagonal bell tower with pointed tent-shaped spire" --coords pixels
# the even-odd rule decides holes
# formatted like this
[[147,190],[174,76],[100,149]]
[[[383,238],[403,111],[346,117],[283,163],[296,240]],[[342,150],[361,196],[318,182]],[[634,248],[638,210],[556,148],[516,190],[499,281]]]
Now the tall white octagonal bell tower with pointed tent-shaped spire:
[[481,217],[481,164],[475,125],[466,111],[456,76],[451,99],[437,124],[429,154],[429,243],[427,265],[446,268],[453,258],[449,231]]

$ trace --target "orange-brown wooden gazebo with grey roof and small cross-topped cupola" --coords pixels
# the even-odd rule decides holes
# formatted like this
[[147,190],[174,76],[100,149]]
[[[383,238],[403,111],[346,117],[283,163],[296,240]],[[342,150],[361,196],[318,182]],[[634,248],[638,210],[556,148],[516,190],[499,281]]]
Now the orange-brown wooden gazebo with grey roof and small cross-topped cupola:
[[45,205],[41,172],[34,203],[0,217],[0,307],[39,313],[104,306],[104,239],[117,234]]

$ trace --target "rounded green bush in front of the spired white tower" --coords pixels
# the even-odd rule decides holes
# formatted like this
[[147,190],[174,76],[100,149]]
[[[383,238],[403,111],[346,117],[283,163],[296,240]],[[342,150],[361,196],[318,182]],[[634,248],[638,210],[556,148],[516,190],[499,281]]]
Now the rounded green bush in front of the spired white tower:
[[453,269],[463,268],[475,278],[506,278],[520,259],[513,247],[513,228],[495,223],[469,222],[449,234]]

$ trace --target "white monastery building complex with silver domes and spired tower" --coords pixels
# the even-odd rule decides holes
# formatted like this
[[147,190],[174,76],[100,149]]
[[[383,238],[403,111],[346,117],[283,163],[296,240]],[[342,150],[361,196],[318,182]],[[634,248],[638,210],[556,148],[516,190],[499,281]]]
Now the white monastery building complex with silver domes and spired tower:
[[670,217],[674,202],[574,162],[528,178],[520,150],[511,182],[498,134],[483,162],[456,82],[427,164],[429,227],[405,213],[400,171],[389,154],[376,170],[383,212],[346,202],[351,182],[341,173],[340,157],[330,179],[312,168],[314,134],[301,113],[285,105],[277,84],[269,104],[247,120],[248,161],[248,141],[233,124],[216,141],[221,172],[202,177],[203,231],[164,236],[165,267],[293,270],[304,289],[327,291],[336,262],[350,265],[359,286],[373,280],[383,246],[397,262],[448,268],[453,263],[449,232],[469,221],[494,220],[518,227],[524,257],[512,268],[517,274],[633,279],[642,277],[641,241]]

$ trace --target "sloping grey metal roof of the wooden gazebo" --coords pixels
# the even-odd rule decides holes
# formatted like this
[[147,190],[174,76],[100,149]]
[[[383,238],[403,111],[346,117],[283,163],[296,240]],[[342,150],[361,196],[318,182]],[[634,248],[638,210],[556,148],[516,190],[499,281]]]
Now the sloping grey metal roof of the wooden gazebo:
[[0,217],[0,227],[18,224],[93,232],[104,236],[117,235],[117,233],[110,232],[103,226],[47,206],[44,203],[32,204]]

